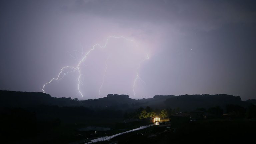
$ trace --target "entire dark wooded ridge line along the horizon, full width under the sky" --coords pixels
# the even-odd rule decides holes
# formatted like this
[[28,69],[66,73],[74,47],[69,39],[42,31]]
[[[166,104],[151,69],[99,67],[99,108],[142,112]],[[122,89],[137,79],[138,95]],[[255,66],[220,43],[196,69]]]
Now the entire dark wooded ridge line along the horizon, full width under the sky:
[[30,107],[36,105],[83,106],[100,109],[136,109],[150,106],[152,108],[179,108],[181,111],[192,111],[196,108],[220,106],[227,104],[247,107],[253,100],[242,101],[239,96],[218,95],[156,95],[153,98],[131,99],[128,95],[108,94],[107,97],[79,101],[71,98],[54,98],[49,94],[38,92],[16,92],[0,90],[0,106]]

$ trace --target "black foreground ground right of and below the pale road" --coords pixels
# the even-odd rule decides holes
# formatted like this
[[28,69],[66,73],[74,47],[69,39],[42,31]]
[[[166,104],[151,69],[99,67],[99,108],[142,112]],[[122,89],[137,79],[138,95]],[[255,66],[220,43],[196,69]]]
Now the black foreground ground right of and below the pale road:
[[215,119],[171,127],[153,126],[98,144],[255,143],[255,120]]

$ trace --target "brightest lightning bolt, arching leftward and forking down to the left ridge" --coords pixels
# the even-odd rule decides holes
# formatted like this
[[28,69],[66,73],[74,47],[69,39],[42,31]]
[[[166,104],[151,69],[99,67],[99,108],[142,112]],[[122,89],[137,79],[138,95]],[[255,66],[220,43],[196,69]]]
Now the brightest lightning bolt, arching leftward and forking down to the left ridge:
[[[133,40],[130,40],[130,39],[125,38],[125,37],[123,37],[123,36],[120,36],[120,37],[109,36],[103,46],[100,45],[99,43],[93,45],[93,47],[84,55],[84,57],[78,62],[78,64],[77,64],[75,67],[72,67],[72,66],[65,66],[65,67],[62,67],[60,73],[59,73],[58,76],[57,76],[57,78],[52,78],[49,82],[45,83],[45,84],[43,85],[42,91],[45,93],[45,90],[44,90],[45,86],[46,86],[47,84],[51,83],[53,80],[59,80],[59,79],[63,78],[66,74],[68,74],[68,73],[70,73],[70,72],[78,71],[79,76],[78,76],[77,89],[78,89],[78,93],[79,93],[82,97],[84,97],[83,94],[82,94],[82,92],[80,91],[80,84],[82,84],[82,82],[81,82],[81,76],[82,76],[82,74],[81,74],[80,65],[81,65],[81,63],[86,59],[86,57],[88,56],[88,54],[89,54],[91,51],[93,51],[97,46],[100,47],[100,48],[105,48],[105,47],[107,46],[108,41],[109,41],[110,38],[123,38],[123,39],[125,39],[125,40],[127,40],[127,41],[133,42]],[[64,69],[67,69],[67,68],[71,68],[72,71],[68,71],[67,73],[64,73],[64,74],[63,74],[63,70],[64,70]],[[61,76],[62,74],[63,74],[63,76],[60,78],[60,76]],[[137,75],[137,77],[138,77],[138,75]],[[136,79],[137,79],[137,78],[136,78]],[[134,88],[133,88],[133,89],[134,89]]]

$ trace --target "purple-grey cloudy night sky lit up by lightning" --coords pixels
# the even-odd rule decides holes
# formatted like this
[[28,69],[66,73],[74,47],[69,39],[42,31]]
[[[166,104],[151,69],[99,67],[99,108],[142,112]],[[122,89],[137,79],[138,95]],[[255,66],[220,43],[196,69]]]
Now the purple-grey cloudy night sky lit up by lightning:
[[0,20],[1,90],[43,92],[123,36],[45,93],[256,98],[254,0],[1,0]]

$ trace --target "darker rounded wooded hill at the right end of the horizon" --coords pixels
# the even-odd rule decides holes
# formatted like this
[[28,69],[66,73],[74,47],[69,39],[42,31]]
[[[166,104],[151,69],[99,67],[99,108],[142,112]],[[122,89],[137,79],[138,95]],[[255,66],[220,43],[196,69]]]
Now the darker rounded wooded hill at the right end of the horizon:
[[227,104],[235,104],[247,107],[249,103],[242,101],[240,96],[226,94],[217,95],[181,95],[166,99],[165,104],[169,108],[179,107],[181,111],[192,111],[196,108],[210,108],[220,106],[225,109]]

